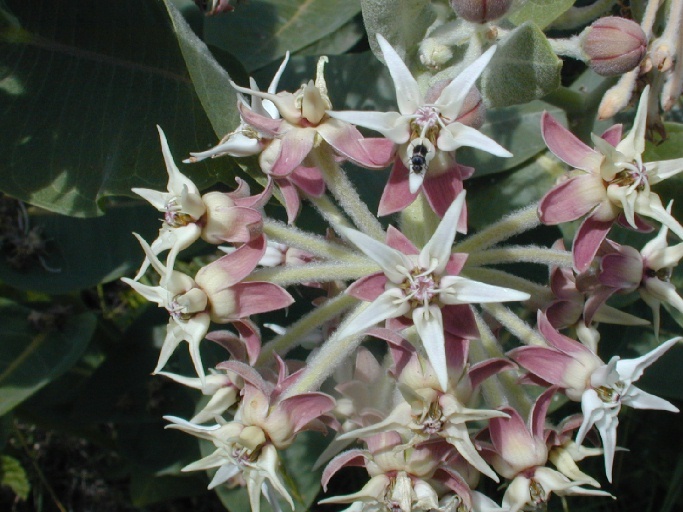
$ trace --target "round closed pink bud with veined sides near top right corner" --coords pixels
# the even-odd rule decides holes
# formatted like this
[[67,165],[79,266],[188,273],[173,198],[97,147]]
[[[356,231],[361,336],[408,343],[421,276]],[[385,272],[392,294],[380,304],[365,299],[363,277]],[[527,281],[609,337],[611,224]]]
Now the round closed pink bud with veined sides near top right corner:
[[588,65],[602,76],[621,75],[643,60],[647,37],[640,26],[626,18],[600,18],[582,35],[581,47]]

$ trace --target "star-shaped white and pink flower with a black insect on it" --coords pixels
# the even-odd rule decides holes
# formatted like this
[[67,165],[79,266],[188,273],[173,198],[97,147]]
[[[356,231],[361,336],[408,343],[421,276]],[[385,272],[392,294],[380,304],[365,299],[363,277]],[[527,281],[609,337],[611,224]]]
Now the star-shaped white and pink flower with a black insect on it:
[[468,95],[496,49],[489,48],[443,87],[433,101],[431,98],[427,101],[426,97],[433,94],[423,96],[396,50],[380,34],[377,34],[377,41],[394,81],[399,111],[335,111],[328,114],[378,131],[399,145],[380,200],[380,215],[404,209],[415,200],[418,191],[423,190],[434,211],[442,217],[462,191],[462,180],[474,172],[455,162],[455,150],[469,146],[496,156],[512,156],[497,142],[462,122],[469,114],[463,108]]

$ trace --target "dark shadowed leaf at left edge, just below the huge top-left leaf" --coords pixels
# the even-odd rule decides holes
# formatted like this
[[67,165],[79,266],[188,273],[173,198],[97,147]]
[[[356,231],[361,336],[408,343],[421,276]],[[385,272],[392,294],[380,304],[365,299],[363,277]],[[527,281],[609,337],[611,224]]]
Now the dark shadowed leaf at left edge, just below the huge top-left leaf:
[[[107,215],[89,219],[38,212],[29,222],[45,244],[41,259],[27,258],[17,268],[6,248],[0,254],[0,280],[21,290],[64,294],[118,279],[144,258],[132,232],[151,241],[161,226],[159,215],[149,204],[130,201],[118,201]],[[29,231],[25,238],[31,236]]]

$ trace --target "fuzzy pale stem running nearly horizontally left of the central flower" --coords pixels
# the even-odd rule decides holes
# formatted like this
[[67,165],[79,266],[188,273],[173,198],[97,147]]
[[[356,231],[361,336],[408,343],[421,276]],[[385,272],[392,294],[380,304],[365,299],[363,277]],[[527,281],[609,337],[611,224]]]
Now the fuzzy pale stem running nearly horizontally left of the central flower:
[[315,281],[360,279],[379,271],[379,266],[367,260],[366,263],[309,263],[286,267],[262,268],[253,272],[244,281],[267,281],[280,286]]

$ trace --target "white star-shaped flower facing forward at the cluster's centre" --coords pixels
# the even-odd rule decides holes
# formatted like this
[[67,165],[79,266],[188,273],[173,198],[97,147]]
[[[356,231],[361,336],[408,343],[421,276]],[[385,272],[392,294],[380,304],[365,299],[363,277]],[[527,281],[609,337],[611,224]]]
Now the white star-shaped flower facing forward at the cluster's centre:
[[[529,294],[472,281],[458,274],[466,254],[451,254],[465,192],[453,201],[436,231],[421,251],[397,229],[389,228],[387,243],[350,228],[339,228],[382,271],[356,281],[350,295],[371,304],[337,332],[352,336],[387,319],[407,317],[413,323],[442,389],[448,385],[444,318],[471,315],[457,306],[470,303],[527,300]],[[443,313],[442,313],[443,309]],[[451,323],[449,318],[447,324]],[[405,326],[404,326],[405,327]]]

